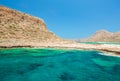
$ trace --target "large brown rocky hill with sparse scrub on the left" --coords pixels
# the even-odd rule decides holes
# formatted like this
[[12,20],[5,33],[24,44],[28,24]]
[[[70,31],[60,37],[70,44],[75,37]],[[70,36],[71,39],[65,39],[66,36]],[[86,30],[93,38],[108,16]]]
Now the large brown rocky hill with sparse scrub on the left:
[[0,46],[60,42],[64,40],[49,31],[42,19],[0,6]]

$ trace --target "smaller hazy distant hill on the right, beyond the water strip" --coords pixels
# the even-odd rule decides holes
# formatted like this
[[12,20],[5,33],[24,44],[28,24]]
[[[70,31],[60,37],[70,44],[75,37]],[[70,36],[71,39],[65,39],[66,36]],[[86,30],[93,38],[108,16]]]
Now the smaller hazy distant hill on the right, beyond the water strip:
[[120,42],[120,32],[112,33],[106,30],[100,30],[86,39],[85,42]]

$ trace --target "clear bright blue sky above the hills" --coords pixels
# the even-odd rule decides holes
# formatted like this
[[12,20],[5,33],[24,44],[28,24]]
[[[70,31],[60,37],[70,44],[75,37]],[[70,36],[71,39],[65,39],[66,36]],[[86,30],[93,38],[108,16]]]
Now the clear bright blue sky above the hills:
[[0,0],[0,5],[42,18],[65,39],[87,38],[103,29],[120,31],[120,0]]

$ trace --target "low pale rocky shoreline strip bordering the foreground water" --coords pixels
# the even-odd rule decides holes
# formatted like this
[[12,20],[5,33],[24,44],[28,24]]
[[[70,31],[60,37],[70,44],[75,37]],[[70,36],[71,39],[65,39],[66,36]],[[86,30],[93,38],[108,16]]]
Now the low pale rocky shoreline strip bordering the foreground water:
[[61,48],[61,49],[84,49],[84,50],[98,50],[107,53],[109,56],[120,57],[120,46],[114,45],[91,45],[79,43],[27,43],[27,44],[0,44],[0,48]]

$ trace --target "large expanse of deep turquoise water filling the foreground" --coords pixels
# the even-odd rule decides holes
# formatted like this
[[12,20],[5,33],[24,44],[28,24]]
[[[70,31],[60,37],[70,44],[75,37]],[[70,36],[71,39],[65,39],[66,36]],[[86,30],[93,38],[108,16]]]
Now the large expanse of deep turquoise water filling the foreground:
[[120,81],[120,58],[88,50],[0,49],[0,81]]

